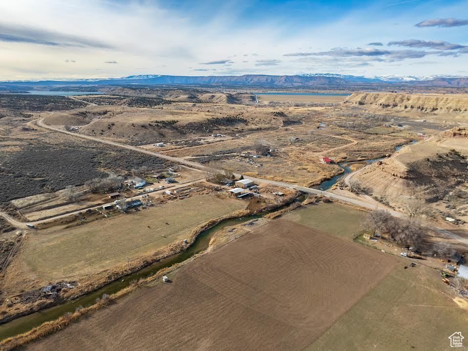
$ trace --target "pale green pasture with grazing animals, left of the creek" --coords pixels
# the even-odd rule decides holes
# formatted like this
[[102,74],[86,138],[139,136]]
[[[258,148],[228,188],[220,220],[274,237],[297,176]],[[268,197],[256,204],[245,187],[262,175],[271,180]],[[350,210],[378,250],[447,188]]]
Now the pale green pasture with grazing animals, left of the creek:
[[30,234],[23,260],[41,281],[83,276],[182,241],[198,224],[245,206],[238,199],[200,195],[58,231],[39,230]]

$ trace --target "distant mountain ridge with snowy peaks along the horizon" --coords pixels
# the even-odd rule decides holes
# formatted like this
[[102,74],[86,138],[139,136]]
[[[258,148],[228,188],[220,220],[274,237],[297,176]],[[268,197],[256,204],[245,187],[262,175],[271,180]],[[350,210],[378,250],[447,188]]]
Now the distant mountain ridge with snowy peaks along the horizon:
[[57,86],[57,85],[207,85],[265,88],[312,88],[319,86],[339,87],[350,85],[395,85],[424,87],[468,87],[468,77],[463,76],[353,76],[334,73],[308,73],[300,75],[245,74],[241,76],[171,76],[159,74],[132,75],[107,79],[76,79],[49,81],[7,81],[8,86]]

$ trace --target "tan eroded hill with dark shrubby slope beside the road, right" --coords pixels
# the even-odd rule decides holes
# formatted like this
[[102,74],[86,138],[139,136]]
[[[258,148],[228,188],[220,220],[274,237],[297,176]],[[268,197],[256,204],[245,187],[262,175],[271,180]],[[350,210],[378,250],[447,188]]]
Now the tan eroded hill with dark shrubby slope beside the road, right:
[[426,201],[436,218],[463,219],[468,214],[467,146],[465,138],[433,137],[407,145],[352,177],[373,197],[404,212],[408,201],[417,198]]

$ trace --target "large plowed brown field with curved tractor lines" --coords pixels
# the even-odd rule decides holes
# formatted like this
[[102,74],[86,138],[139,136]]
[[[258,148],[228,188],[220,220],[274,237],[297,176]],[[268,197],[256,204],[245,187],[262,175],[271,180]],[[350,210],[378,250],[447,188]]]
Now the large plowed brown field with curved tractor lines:
[[397,260],[274,220],[30,350],[299,350]]

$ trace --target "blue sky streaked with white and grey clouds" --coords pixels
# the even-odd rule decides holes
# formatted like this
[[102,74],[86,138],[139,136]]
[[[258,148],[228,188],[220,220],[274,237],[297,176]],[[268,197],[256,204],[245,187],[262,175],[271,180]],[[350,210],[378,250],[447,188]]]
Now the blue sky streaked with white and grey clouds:
[[0,80],[468,76],[468,0],[4,0],[0,14]]

